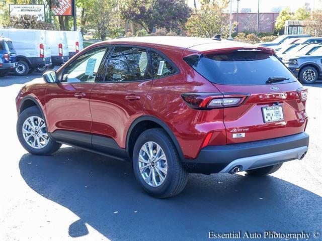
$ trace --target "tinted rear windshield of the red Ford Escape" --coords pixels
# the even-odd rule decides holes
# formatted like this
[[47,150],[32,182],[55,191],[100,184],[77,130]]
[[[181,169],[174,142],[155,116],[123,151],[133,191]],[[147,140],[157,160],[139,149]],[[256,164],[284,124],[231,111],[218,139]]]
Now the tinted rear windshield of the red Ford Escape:
[[277,57],[263,52],[192,55],[184,60],[203,77],[217,84],[259,85],[266,84],[269,77],[289,78],[279,83],[296,81]]

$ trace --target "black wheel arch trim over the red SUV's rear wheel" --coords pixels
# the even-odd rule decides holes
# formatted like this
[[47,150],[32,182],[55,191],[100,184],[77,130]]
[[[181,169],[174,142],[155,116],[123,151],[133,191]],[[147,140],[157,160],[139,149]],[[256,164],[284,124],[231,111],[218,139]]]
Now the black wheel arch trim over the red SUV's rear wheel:
[[176,136],[172,132],[172,130],[162,120],[160,120],[157,117],[151,116],[151,115],[144,115],[144,116],[140,116],[137,119],[135,119],[135,121],[131,124],[131,126],[127,132],[126,150],[128,151],[128,155],[129,155],[130,160],[132,161],[132,153],[133,153],[133,148],[134,148],[134,144],[135,144],[136,139],[139,137],[139,135],[143,131],[146,131],[146,130],[152,129],[152,128],[163,128],[167,132],[167,134],[169,135],[169,137],[171,138],[173,143],[175,144],[180,159],[184,160],[184,155],[183,155],[181,146],[180,146]]

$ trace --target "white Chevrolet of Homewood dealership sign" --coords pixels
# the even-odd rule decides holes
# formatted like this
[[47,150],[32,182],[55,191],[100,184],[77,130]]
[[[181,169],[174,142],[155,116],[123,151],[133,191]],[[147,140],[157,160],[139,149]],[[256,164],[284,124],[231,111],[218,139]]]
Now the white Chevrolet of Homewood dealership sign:
[[43,4],[10,4],[10,18],[24,15],[36,16],[38,21],[45,22],[45,5]]

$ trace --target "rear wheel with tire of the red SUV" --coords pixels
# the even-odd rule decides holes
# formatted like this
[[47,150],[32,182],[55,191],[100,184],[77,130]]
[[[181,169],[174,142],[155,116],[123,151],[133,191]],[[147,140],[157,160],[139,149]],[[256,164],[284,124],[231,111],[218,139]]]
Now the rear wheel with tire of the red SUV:
[[189,173],[181,164],[178,151],[162,128],[144,131],[133,150],[134,175],[151,196],[166,198],[179,194]]

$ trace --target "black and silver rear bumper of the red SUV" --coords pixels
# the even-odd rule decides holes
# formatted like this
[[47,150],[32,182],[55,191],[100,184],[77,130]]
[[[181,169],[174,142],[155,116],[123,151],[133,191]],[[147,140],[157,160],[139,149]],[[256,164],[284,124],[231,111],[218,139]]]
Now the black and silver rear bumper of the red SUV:
[[238,166],[240,171],[300,159],[307,152],[309,136],[299,133],[262,141],[207,146],[196,159],[184,160],[192,173],[225,173]]

